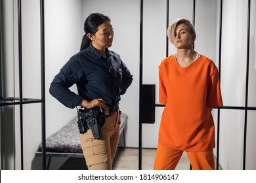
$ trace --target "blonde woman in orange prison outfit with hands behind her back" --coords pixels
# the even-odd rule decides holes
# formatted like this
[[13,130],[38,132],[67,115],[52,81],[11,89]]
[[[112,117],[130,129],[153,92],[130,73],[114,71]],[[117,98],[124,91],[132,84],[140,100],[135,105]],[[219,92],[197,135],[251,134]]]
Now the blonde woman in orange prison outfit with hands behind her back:
[[219,72],[193,49],[194,26],[179,18],[167,35],[177,53],[159,66],[160,103],[165,104],[154,169],[175,169],[185,151],[192,169],[215,169],[215,127],[211,111],[223,106]]

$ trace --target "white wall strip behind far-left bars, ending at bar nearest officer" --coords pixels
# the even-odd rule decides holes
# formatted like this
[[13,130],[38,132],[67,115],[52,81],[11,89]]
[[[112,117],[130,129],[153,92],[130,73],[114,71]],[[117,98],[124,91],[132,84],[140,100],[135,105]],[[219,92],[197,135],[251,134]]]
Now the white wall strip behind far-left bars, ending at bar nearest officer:
[[[14,9],[16,12],[16,1]],[[22,97],[41,98],[40,87],[40,32],[39,32],[39,2],[22,1]],[[31,8],[34,7],[34,8]],[[14,27],[18,20],[15,19]],[[18,30],[18,29],[17,29]],[[16,32],[18,33],[18,32]],[[18,75],[18,35],[14,35],[14,92],[20,97],[19,75]],[[35,145],[40,139],[41,127],[41,105],[31,104],[23,106],[23,147],[24,147],[24,169],[30,169],[32,157],[35,154]],[[16,131],[16,169],[20,169],[20,106],[15,106],[15,131]]]

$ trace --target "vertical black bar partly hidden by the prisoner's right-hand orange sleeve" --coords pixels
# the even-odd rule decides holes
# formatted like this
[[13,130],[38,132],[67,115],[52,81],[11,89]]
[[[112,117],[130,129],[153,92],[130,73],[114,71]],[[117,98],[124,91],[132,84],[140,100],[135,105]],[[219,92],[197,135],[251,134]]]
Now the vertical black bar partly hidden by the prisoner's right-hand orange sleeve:
[[[219,79],[221,81],[221,45],[222,45],[222,31],[223,31],[223,0],[220,0],[220,15],[219,15]],[[216,169],[219,170],[219,135],[220,135],[220,116],[221,110],[218,108],[217,112],[217,158]]]

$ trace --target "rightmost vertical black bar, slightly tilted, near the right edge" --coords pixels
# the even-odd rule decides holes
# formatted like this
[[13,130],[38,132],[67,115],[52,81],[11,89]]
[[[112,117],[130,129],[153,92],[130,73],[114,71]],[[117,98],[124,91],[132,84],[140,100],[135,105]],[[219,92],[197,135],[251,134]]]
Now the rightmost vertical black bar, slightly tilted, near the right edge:
[[[251,25],[251,0],[248,0],[245,107],[248,107],[250,25]],[[245,109],[245,114],[244,114],[244,158],[243,158],[243,170],[245,170],[245,163],[246,163],[245,162],[246,161],[246,137],[247,137],[247,108]]]

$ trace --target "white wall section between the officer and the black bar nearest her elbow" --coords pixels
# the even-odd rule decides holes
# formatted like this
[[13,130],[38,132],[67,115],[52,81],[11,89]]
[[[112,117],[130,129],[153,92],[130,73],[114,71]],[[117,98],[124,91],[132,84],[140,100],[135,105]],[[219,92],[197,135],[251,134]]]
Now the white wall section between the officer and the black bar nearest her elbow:
[[[47,136],[76,115],[75,109],[64,107],[49,93],[54,76],[81,44],[81,1],[45,1],[45,70]],[[76,91],[75,87],[71,90]]]

